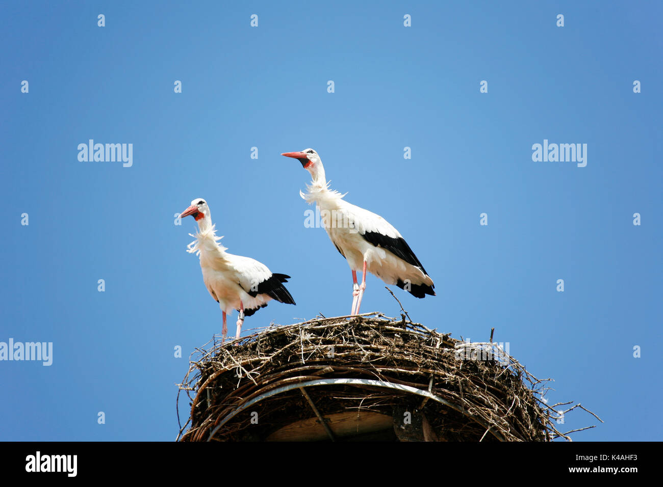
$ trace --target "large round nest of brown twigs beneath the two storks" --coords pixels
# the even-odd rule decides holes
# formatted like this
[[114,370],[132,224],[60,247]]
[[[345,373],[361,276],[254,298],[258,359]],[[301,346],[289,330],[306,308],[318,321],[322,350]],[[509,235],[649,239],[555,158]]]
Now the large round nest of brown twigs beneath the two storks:
[[[320,317],[194,352],[178,440],[570,440],[556,423],[581,406],[548,406],[546,381],[492,337],[466,343],[406,315]],[[178,418],[179,406],[178,392]]]

